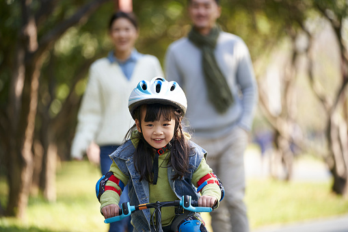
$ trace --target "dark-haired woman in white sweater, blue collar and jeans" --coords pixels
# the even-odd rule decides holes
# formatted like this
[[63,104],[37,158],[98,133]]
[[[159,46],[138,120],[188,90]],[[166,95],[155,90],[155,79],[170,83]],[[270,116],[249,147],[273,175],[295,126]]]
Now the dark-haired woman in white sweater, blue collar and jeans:
[[[87,153],[91,162],[100,160],[103,175],[109,171],[112,163],[109,154],[122,144],[124,135],[134,123],[127,106],[134,86],[143,79],[150,81],[153,77],[163,77],[157,57],[144,55],[135,49],[138,35],[133,14],[116,12],[111,16],[109,36],[114,49],[90,67],[88,85],[79,109],[71,155],[75,159],[82,159]],[[100,159],[98,152],[89,152],[93,147],[97,151],[100,147]],[[129,201],[127,198],[128,191],[124,188],[120,203]],[[114,223],[109,231],[122,232],[125,224],[130,224]]]

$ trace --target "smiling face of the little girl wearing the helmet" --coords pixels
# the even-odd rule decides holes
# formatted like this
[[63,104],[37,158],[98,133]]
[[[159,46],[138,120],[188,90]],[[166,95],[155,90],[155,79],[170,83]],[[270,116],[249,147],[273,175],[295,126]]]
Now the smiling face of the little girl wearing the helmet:
[[[145,122],[146,108],[142,108],[140,112],[140,118],[142,122],[135,119],[137,130],[142,132],[146,142],[155,149],[161,149],[167,145],[174,136],[175,119],[165,120],[163,116],[159,120]],[[140,127],[141,125],[141,127]]]

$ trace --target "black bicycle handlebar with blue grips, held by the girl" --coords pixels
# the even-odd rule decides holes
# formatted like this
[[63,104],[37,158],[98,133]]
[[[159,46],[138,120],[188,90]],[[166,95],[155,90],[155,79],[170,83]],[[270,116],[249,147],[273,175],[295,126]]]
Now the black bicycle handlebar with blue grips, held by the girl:
[[107,218],[104,220],[105,223],[117,222],[131,215],[131,213],[135,210],[149,209],[155,208],[158,205],[161,207],[168,206],[181,206],[183,209],[193,211],[193,212],[211,212],[213,209],[211,207],[198,207],[198,201],[191,200],[191,196],[185,195],[179,201],[167,201],[167,202],[158,202],[157,203],[147,203],[142,205],[130,205],[129,202],[122,203],[122,209],[118,211],[119,216],[115,216],[112,218]]

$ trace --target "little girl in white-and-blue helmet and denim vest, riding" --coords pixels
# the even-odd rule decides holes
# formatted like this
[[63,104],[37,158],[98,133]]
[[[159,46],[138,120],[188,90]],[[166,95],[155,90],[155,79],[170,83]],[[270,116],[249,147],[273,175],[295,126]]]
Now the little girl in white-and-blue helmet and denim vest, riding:
[[[181,120],[186,109],[186,96],[174,81],[155,77],[150,82],[140,81],[133,90],[129,111],[135,124],[126,142],[110,155],[113,164],[104,188],[99,188],[105,218],[118,216],[126,184],[131,205],[175,201],[190,195],[201,207],[217,207],[222,197],[219,180],[206,164],[206,151],[183,132]],[[145,209],[131,214],[135,231],[154,231],[152,213],[153,209]],[[189,220],[197,223],[183,223]],[[174,207],[162,208],[161,221],[163,231],[206,231],[200,214],[185,211],[178,216]]]

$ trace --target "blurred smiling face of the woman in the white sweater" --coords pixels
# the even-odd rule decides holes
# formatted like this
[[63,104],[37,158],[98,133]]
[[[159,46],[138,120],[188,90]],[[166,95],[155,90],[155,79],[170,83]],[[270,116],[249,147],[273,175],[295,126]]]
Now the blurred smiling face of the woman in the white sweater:
[[127,18],[118,18],[116,21],[113,21],[109,34],[116,53],[131,51],[138,37],[137,29]]

